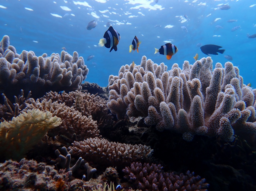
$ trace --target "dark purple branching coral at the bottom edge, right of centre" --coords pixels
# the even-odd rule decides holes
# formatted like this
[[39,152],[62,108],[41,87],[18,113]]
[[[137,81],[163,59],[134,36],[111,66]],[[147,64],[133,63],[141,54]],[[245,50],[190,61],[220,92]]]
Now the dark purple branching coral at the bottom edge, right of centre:
[[131,167],[123,169],[124,178],[136,189],[142,191],[180,191],[197,190],[207,191],[209,184],[200,176],[194,176],[194,172],[186,172],[186,175],[180,175],[174,172],[167,173],[163,171],[161,165],[144,163],[132,163]]

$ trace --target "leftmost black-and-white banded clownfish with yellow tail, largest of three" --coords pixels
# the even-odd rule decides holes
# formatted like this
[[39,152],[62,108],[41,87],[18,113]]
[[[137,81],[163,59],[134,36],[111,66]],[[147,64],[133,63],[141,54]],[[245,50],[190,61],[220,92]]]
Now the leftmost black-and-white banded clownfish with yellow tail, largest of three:
[[110,51],[111,52],[113,49],[115,51],[117,51],[117,44],[119,43],[119,40],[120,40],[120,34],[112,27],[110,26],[108,28],[108,30],[105,32],[104,38],[101,38],[98,45],[99,46],[104,46],[106,48],[110,48]]

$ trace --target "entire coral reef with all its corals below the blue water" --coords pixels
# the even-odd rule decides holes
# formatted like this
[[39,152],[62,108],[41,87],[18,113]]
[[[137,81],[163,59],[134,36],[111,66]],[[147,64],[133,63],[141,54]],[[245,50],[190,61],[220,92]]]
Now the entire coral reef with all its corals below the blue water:
[[0,190],[256,190],[256,89],[231,62],[143,56],[109,93],[88,71],[77,52],[2,38]]

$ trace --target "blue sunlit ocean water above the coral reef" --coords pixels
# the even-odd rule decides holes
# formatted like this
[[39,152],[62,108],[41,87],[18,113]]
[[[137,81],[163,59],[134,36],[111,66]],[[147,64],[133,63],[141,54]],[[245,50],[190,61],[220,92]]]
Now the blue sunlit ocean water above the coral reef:
[[[198,43],[215,44],[226,51],[212,55],[214,64],[220,62],[224,67],[229,61],[224,55],[232,56],[231,62],[239,67],[244,83],[251,82],[255,87],[256,38],[247,37],[248,33],[256,33],[255,3],[255,0],[159,0],[157,3],[154,0],[1,0],[0,37],[8,35],[17,53],[32,50],[37,56],[43,53],[49,56],[53,52],[61,53],[62,47],[70,54],[77,51],[89,68],[86,81],[101,86],[107,86],[109,75],[117,75],[122,65],[133,61],[140,64],[143,55],[157,64],[164,62],[168,69],[173,63],[182,68],[184,60],[195,62],[196,53],[199,59],[207,56]],[[223,4],[228,4],[230,9],[221,10]],[[237,21],[227,22],[230,19]],[[92,20],[97,20],[98,25],[87,30]],[[107,22],[120,34],[117,52],[98,46],[108,29]],[[236,26],[240,28],[231,31]],[[129,53],[135,35],[142,42],[139,53]],[[154,47],[159,49],[167,42],[179,49],[170,60],[154,54]],[[89,55],[95,57],[86,61]]]

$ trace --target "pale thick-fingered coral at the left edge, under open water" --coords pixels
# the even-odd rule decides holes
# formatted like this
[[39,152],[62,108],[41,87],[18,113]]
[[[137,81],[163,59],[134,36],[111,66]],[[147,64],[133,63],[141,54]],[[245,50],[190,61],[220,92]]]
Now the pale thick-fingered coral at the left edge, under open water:
[[89,70],[77,52],[73,52],[73,56],[62,51],[60,55],[44,53],[37,57],[33,51],[23,50],[19,55],[9,44],[9,37],[5,35],[0,42],[0,90],[8,98],[12,94],[8,89],[23,89],[27,93],[28,86],[38,97],[50,90],[82,89],[81,84]]

